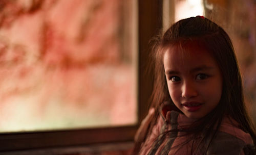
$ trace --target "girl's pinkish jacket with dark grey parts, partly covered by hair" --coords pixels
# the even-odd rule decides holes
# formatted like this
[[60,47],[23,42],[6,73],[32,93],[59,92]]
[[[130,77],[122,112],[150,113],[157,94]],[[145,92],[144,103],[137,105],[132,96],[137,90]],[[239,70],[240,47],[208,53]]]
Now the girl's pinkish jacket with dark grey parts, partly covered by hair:
[[[177,111],[166,111],[162,106],[160,116],[152,132],[140,146],[139,154],[183,154],[190,155],[191,147],[194,148],[193,140],[185,143],[187,136],[181,136],[181,132],[166,131],[179,129],[184,125],[192,123],[192,120]],[[154,115],[151,109],[135,136],[136,141],[141,141],[146,135],[146,130]],[[164,134],[165,133],[165,134]],[[194,140],[195,142],[196,140]],[[184,145],[180,145],[184,144]],[[229,118],[223,118],[216,137],[211,141],[206,154],[256,154],[252,139],[248,133],[239,128],[238,123]]]

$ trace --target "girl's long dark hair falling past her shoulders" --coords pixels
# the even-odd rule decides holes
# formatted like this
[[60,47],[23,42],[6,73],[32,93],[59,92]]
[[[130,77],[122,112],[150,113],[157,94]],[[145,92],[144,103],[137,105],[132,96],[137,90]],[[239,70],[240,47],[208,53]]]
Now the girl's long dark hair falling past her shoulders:
[[[227,115],[236,120],[244,132],[250,134],[255,144],[255,130],[245,107],[241,73],[234,54],[233,45],[227,33],[219,25],[207,18],[190,17],[173,24],[163,36],[157,37],[156,40],[151,54],[155,76],[151,107],[154,107],[156,111],[148,134],[150,134],[152,127],[156,124],[159,116],[157,109],[159,109],[161,104],[165,101],[173,104],[169,96],[164,74],[164,52],[172,45],[182,45],[185,42],[191,42],[204,47],[217,61],[223,76],[223,90],[218,106],[205,117],[201,118],[198,121],[200,123],[194,123],[193,126],[185,130],[183,129],[183,131],[194,136],[198,136],[201,132],[204,132],[205,136],[202,137],[199,145],[203,144],[204,140],[210,139],[207,146],[204,147],[204,152],[206,152],[211,140],[214,139],[218,131],[222,118],[224,115]],[[217,126],[217,130],[215,126]],[[199,145],[197,151],[199,151]]]

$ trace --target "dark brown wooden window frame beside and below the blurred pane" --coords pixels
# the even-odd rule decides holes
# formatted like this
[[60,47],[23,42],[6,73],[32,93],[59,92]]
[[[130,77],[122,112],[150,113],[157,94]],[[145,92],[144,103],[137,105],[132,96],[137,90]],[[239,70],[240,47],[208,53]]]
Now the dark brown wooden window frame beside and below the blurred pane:
[[44,149],[133,141],[148,109],[153,76],[145,76],[148,43],[162,28],[162,0],[137,0],[138,6],[138,122],[135,125],[38,132],[0,133],[0,151]]

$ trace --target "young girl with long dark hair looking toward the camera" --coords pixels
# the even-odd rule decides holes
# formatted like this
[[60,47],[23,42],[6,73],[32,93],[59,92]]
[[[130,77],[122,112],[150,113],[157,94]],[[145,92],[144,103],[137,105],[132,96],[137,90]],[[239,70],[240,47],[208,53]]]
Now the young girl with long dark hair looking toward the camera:
[[153,50],[152,106],[134,154],[256,154],[227,33],[203,16],[176,22]]

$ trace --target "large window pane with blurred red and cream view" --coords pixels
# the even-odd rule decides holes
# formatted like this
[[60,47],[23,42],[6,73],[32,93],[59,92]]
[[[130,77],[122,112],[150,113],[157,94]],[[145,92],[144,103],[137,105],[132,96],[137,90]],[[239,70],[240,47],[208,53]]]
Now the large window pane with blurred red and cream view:
[[137,122],[135,0],[0,7],[0,132]]

